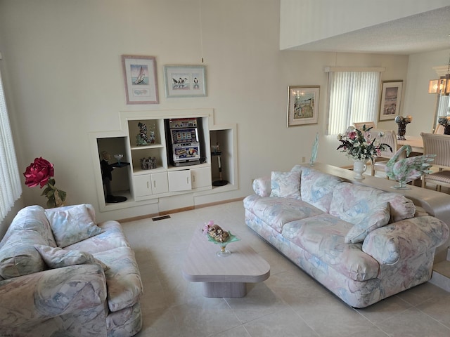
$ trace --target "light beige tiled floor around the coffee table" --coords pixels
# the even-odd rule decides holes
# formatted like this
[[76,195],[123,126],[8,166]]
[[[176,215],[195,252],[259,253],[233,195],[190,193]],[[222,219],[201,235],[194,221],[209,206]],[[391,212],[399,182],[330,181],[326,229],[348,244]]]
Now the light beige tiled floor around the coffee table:
[[[214,220],[271,265],[245,298],[204,298],[181,266],[193,230]],[[181,337],[450,336],[450,293],[429,283],[365,309],[350,308],[262,241],[244,223],[242,201],[123,224],[143,279],[143,328]],[[232,249],[232,244],[229,247]]]

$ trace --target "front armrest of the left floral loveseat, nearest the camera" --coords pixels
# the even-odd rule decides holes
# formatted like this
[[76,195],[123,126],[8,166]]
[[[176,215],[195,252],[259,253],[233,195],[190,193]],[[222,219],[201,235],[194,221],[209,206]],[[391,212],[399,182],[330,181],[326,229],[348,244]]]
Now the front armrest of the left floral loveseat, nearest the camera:
[[105,274],[97,263],[5,279],[0,282],[0,331],[94,308],[105,299]]

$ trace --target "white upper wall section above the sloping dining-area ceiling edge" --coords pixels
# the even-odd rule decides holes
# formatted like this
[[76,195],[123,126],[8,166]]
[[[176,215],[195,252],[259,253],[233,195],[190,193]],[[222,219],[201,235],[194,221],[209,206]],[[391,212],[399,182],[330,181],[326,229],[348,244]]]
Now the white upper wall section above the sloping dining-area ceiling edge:
[[281,0],[280,49],[449,5],[449,0]]

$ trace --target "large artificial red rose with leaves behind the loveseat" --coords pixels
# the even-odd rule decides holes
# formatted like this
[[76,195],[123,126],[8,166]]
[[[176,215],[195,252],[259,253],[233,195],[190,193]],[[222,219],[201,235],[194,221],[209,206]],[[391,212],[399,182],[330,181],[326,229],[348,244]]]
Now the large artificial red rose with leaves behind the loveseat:
[[56,182],[53,179],[55,169],[46,159],[42,157],[34,159],[34,162],[25,169],[23,176],[25,176],[25,185],[34,187],[39,185],[40,188],[46,186],[41,195],[45,195],[47,200],[47,207],[59,207],[64,205],[67,193],[55,187]]

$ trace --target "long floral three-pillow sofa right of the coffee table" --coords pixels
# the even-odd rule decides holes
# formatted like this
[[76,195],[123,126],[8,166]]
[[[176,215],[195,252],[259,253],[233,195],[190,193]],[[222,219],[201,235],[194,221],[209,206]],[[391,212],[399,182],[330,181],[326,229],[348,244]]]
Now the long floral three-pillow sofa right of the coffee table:
[[272,172],[245,197],[245,223],[354,308],[427,282],[449,227],[402,194],[311,166]]

